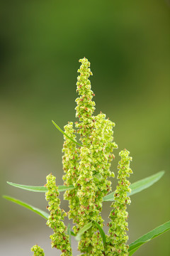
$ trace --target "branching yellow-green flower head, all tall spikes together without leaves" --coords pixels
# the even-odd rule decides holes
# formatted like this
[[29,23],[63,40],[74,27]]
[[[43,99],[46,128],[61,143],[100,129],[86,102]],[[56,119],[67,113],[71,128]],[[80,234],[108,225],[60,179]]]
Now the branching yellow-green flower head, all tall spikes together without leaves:
[[[128,255],[128,213],[126,204],[130,203],[127,193],[130,192],[129,181],[126,177],[132,172],[129,168],[131,158],[128,151],[121,151],[121,161],[118,166],[118,186],[115,191],[115,202],[112,204],[111,223],[106,243],[101,238],[99,229],[103,228],[101,210],[103,197],[111,191],[111,181],[114,177],[110,171],[111,161],[115,158],[113,149],[118,146],[113,141],[113,127],[115,124],[106,119],[102,112],[94,116],[95,102],[92,100],[94,92],[91,90],[89,80],[92,75],[90,63],[86,58],[79,60],[81,66],[77,78],[76,117],[79,122],[69,122],[64,127],[64,145],[62,164],[64,169],[63,181],[65,186],[74,186],[72,190],[64,193],[64,199],[69,201],[68,214],[60,209],[59,192],[55,184],[55,176],[47,176],[46,200],[49,202],[50,217],[47,225],[52,228],[50,235],[52,247],[62,251],[62,256],[72,255],[72,248],[67,235],[67,227],[64,225],[64,216],[68,215],[74,223],[74,235],[84,226],[90,224],[90,228],[81,234],[78,250],[81,255]],[[81,146],[77,146],[77,136],[80,136]],[[71,138],[71,139],[70,139]],[[99,229],[98,229],[99,228]]]

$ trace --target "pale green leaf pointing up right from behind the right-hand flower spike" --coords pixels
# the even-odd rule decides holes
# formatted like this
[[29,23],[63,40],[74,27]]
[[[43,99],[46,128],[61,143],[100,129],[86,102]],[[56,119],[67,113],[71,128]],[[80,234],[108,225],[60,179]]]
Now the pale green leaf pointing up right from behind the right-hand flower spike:
[[[160,178],[164,175],[164,171],[159,171],[157,174],[154,174],[152,176],[149,176],[147,178],[143,178],[140,181],[137,181],[135,183],[132,183],[130,185],[130,188],[132,189],[131,193],[128,193],[128,196],[132,196],[135,193],[138,193],[145,188],[149,188],[149,186],[152,186],[155,182],[159,181]],[[109,193],[107,196],[103,197],[103,201],[114,201],[114,193]]]

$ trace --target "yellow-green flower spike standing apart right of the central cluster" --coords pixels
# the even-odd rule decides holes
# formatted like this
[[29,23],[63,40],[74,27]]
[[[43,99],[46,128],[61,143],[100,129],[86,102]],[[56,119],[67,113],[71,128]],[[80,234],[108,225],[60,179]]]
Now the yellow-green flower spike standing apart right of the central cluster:
[[126,205],[130,204],[130,197],[127,196],[127,193],[130,193],[131,190],[127,177],[132,174],[132,170],[130,169],[132,157],[129,154],[130,152],[126,149],[120,151],[121,160],[118,164],[119,181],[114,194],[115,202],[111,205],[113,210],[109,215],[112,221],[108,224],[108,233],[110,234],[107,238],[109,249],[106,249],[106,255],[108,256],[128,256],[128,245],[126,245],[128,242],[128,235],[126,234],[126,231],[128,231],[128,212],[126,211]]

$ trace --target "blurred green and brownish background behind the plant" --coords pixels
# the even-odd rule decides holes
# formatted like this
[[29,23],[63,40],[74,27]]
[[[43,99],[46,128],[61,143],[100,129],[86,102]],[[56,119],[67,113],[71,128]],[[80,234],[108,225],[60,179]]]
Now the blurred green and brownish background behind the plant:
[[[6,181],[45,184],[52,172],[62,184],[60,127],[76,121],[79,58],[91,61],[96,114],[116,124],[115,142],[133,157],[131,182],[165,170],[158,183],[132,196],[130,242],[169,220],[170,3],[143,1],[1,1],[0,192],[45,209],[42,193],[20,191]],[[111,170],[116,171],[115,151]],[[113,180],[113,189],[116,180]],[[51,230],[21,206],[1,201],[1,255],[46,255]],[[110,203],[103,207],[108,222]],[[67,202],[62,201],[67,210]],[[170,255],[170,233],[136,255]],[[74,255],[79,254],[74,246]]]

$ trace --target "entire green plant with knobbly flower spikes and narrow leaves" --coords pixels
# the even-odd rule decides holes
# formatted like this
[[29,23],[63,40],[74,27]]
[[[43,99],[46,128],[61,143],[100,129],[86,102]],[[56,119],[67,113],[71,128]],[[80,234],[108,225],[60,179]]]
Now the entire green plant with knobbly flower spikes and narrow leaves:
[[[132,174],[130,162],[132,156],[127,149],[120,151],[118,159],[118,176],[111,171],[111,161],[115,159],[114,151],[118,145],[114,142],[113,128],[115,123],[100,112],[94,115],[94,92],[89,80],[91,73],[89,60],[79,60],[81,66],[77,78],[77,107],[75,122],[68,122],[64,131],[55,127],[64,135],[62,164],[63,184],[56,184],[53,174],[47,175],[45,186],[28,186],[8,182],[28,191],[45,193],[48,203],[46,211],[23,203],[18,199],[4,196],[18,203],[47,220],[52,229],[51,246],[61,251],[62,256],[72,256],[72,236],[78,241],[80,255],[128,256],[133,255],[141,245],[170,229],[170,221],[143,235],[130,245],[128,244],[128,208],[133,194],[152,186],[164,175],[164,171],[130,184]],[[114,160],[115,161],[115,160]],[[115,191],[112,183],[116,184]],[[60,192],[64,191],[64,199],[68,201],[69,212],[60,208]],[[108,234],[103,231],[104,220],[101,210],[106,201],[111,201],[111,213],[108,216]],[[71,225],[64,224],[64,218],[72,220]],[[31,248],[34,256],[44,256],[41,247]]]

